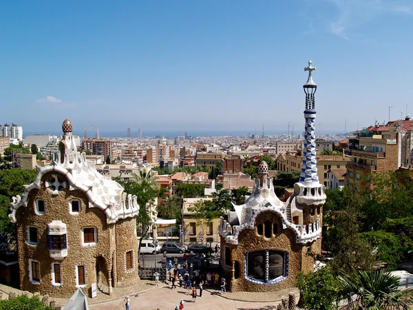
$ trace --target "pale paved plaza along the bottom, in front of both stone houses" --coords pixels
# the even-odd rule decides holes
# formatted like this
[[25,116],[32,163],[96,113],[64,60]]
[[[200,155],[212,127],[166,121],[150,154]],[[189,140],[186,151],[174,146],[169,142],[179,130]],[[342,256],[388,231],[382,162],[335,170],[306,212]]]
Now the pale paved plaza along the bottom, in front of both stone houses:
[[[199,290],[198,290],[199,292]],[[277,302],[240,302],[229,300],[217,295],[216,290],[204,290],[202,297],[197,297],[192,302],[192,297],[187,296],[184,288],[171,289],[169,285],[161,284],[159,288],[141,293],[138,297],[131,297],[131,310],[173,310],[179,304],[181,298],[184,300],[184,309],[193,310],[258,310],[273,309]],[[125,302],[123,299],[105,302],[103,304],[90,304],[90,310],[123,310]]]

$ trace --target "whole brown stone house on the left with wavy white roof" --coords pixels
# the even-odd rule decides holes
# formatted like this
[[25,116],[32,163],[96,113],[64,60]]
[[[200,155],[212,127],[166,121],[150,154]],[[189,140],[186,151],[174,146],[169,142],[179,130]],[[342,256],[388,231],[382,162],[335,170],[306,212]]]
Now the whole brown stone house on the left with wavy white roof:
[[67,121],[60,157],[39,167],[23,198],[12,203],[20,287],[70,298],[76,288],[89,290],[96,282],[112,293],[112,287],[139,280],[138,205],[118,183],[89,167],[73,145]]

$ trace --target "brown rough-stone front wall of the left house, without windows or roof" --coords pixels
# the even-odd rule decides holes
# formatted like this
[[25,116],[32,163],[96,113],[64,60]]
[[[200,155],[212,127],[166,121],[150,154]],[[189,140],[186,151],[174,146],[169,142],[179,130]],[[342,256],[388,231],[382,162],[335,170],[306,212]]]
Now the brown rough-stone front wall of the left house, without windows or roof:
[[[49,178],[50,174],[45,174],[42,181]],[[59,176],[64,179],[64,176]],[[67,180],[66,184],[67,184]],[[28,196],[28,206],[20,207],[17,210],[17,242],[19,249],[19,269],[21,289],[25,291],[39,291],[42,295],[48,294],[52,297],[70,298],[76,290],[76,265],[85,265],[85,280],[87,289],[96,282],[96,262],[99,267],[105,267],[112,262],[116,249],[114,242],[114,225],[108,225],[104,211],[88,207],[87,196],[79,191],[69,191],[68,186],[52,196],[50,189],[32,189]],[[45,202],[45,212],[42,215],[36,214],[36,198]],[[81,201],[81,212],[78,215],[69,213],[70,200]],[[67,256],[63,260],[50,258],[47,247],[47,224],[52,220],[61,220],[67,225]],[[133,227],[133,218],[129,219]],[[38,244],[29,245],[27,227],[36,227],[38,230]],[[81,229],[83,227],[95,227],[97,229],[96,245],[82,245]],[[133,231],[133,228],[132,228]],[[125,231],[120,231],[121,234]],[[136,249],[135,238],[130,234],[125,236],[130,247]],[[30,282],[30,260],[36,260],[40,265],[41,280],[39,284]],[[52,286],[52,262],[61,263],[60,286]],[[122,265],[123,266],[123,265]],[[114,266],[115,267],[115,266]],[[100,282],[108,285],[109,272],[100,271]],[[136,273],[136,278],[138,278]],[[106,283],[105,283],[106,282]]]

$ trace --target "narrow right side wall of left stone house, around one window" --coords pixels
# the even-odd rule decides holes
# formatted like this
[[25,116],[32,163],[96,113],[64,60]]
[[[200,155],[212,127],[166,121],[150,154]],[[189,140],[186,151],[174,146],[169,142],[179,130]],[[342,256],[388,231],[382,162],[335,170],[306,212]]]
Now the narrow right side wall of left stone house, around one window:
[[[138,277],[138,238],[134,228],[135,218],[116,222],[116,278],[118,287],[131,285]],[[134,267],[127,269],[126,253],[133,251]]]

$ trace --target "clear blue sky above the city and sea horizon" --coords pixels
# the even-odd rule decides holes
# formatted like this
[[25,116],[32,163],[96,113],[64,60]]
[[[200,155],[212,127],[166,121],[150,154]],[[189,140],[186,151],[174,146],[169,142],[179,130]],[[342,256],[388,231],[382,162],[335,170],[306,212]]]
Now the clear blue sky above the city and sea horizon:
[[[344,132],[413,116],[413,1],[1,1],[0,123]],[[410,111],[410,112],[409,112]]]

